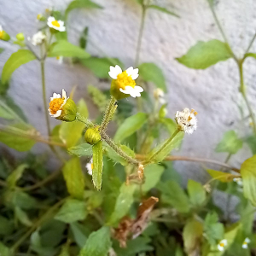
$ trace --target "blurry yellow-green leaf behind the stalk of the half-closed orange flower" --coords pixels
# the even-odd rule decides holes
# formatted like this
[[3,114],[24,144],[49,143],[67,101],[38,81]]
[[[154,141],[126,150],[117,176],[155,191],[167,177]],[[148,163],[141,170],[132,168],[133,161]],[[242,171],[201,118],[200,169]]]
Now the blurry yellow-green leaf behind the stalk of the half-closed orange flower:
[[[80,100],[78,103],[78,112],[84,117],[88,117],[88,109],[84,105],[84,101]],[[79,142],[84,130],[84,124],[79,121],[61,122],[59,131],[61,141],[67,145],[67,148],[73,147]]]

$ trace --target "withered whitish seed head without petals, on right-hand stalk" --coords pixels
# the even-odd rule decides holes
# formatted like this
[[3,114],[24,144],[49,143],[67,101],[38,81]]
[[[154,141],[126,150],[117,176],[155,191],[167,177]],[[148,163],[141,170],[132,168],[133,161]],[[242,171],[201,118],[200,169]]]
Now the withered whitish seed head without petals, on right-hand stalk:
[[184,108],[183,111],[176,113],[176,122],[180,131],[185,131],[189,134],[193,133],[197,127],[197,112],[194,109]]

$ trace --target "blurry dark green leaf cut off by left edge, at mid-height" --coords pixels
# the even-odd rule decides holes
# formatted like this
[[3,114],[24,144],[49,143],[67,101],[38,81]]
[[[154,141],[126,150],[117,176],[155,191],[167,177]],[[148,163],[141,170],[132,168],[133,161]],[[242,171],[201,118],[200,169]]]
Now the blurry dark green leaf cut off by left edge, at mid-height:
[[32,148],[35,141],[30,137],[26,137],[26,135],[33,135],[35,132],[35,129],[31,125],[23,123],[9,125],[0,131],[0,142],[17,151],[27,151]]

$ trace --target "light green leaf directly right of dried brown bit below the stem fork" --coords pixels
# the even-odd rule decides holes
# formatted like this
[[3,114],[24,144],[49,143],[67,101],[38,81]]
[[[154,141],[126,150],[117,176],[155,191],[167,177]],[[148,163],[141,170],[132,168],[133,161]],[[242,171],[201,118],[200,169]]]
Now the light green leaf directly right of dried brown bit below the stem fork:
[[146,166],[144,170],[145,183],[143,183],[143,192],[153,189],[160,181],[160,177],[165,171],[164,166],[150,165]]

